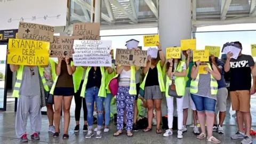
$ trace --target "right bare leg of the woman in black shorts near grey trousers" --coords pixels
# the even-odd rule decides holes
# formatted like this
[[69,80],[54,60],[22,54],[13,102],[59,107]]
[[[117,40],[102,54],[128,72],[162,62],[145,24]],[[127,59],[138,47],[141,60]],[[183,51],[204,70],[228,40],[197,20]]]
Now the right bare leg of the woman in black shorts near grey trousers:
[[73,95],[63,97],[63,113],[64,113],[64,134],[68,134],[68,126],[70,122],[70,106]]

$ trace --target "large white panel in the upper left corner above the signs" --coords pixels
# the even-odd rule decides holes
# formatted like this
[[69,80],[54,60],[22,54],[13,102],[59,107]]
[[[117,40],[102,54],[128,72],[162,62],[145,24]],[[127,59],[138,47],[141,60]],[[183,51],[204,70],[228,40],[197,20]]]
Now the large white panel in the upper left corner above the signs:
[[67,0],[0,0],[0,30],[18,29],[19,22],[66,26]]

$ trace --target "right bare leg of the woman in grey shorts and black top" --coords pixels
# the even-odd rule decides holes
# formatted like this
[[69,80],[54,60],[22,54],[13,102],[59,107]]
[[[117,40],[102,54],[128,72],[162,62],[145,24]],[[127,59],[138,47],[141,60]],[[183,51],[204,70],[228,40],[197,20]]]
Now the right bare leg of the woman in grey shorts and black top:
[[155,99],[154,100],[154,105],[155,105],[155,109],[156,109],[156,129],[157,133],[162,133],[161,130],[161,119],[162,119],[162,111],[161,111],[161,103],[162,103],[162,99]]

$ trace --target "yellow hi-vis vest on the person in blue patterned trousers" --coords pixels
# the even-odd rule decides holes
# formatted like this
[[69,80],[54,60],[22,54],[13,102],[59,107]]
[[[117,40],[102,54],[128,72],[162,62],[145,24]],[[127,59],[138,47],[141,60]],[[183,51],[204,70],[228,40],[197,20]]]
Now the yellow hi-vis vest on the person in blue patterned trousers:
[[[131,66],[131,81],[130,81],[130,89],[129,89],[129,94],[131,94],[131,95],[136,95],[137,94],[136,82],[135,82],[135,73],[136,73],[135,67]],[[116,78],[117,76],[118,76],[118,74],[115,77],[113,77],[113,78]],[[111,82],[111,80],[109,82]],[[109,86],[109,83],[106,86],[107,90],[109,90],[108,86]]]

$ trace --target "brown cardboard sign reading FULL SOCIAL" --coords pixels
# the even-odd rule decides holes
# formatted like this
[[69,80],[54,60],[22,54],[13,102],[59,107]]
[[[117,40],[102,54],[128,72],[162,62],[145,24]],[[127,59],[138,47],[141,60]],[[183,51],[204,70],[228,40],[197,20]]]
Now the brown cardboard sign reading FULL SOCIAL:
[[100,23],[74,23],[73,36],[83,36],[86,40],[99,40],[100,39]]

